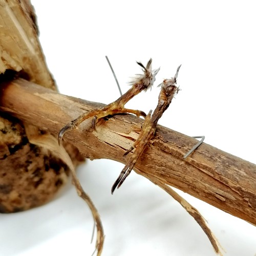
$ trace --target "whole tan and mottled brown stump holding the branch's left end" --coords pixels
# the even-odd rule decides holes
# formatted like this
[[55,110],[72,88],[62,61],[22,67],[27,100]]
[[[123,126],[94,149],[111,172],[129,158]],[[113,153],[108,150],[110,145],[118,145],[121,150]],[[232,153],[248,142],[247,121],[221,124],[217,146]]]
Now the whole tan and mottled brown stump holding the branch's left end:
[[[56,90],[28,0],[0,0],[0,88],[3,81],[14,77]],[[0,113],[0,212],[44,204],[67,180],[67,166],[49,150],[30,143],[32,131],[41,133],[37,127],[25,129],[22,121]],[[66,149],[75,165],[82,160],[71,144]]]

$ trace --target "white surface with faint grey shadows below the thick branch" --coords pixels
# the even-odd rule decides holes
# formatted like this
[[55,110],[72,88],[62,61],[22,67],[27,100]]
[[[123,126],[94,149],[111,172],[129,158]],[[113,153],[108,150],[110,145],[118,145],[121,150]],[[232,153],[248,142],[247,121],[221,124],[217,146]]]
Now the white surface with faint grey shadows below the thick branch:
[[[215,255],[194,219],[143,177],[132,173],[112,196],[111,185],[121,167],[110,160],[88,160],[78,169],[81,183],[103,222],[102,255]],[[183,196],[200,209],[227,255],[254,255],[252,225]],[[90,244],[93,220],[89,208],[71,184],[49,204],[1,215],[0,220],[1,255],[91,255],[94,250],[94,243]]]

